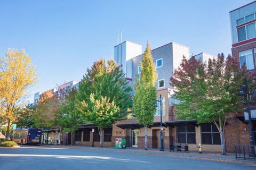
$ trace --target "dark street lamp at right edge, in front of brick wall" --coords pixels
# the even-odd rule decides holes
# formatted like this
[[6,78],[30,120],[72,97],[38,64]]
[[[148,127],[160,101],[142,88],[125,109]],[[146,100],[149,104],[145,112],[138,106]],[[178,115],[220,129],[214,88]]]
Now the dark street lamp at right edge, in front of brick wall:
[[[243,89],[245,89],[245,94]],[[247,79],[245,78],[245,85],[241,86],[240,90],[239,90],[239,96],[246,96],[246,103],[247,103],[247,113],[248,113],[248,119],[249,119],[249,130],[250,130],[250,145],[251,145],[251,154],[254,157],[255,156],[255,150],[254,150],[254,134],[253,134],[253,129],[252,129],[252,117],[251,117],[251,109],[250,109],[250,103],[249,103],[249,97],[250,97],[250,91],[249,91],[249,87],[247,84]]]

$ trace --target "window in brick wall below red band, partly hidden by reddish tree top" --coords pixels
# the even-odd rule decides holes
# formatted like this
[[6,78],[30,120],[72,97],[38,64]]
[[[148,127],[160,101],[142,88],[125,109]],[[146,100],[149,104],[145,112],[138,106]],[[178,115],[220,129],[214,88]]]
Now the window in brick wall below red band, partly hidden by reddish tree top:
[[239,61],[240,68],[242,68],[243,64],[245,64],[248,70],[254,69],[252,50],[249,49],[243,52],[239,52]]

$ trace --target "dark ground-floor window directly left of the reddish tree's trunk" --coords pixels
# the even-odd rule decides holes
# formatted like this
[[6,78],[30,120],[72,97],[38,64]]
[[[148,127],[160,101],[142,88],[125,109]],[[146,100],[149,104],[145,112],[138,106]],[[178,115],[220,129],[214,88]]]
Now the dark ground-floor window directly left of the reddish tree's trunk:
[[214,124],[201,124],[202,144],[220,145],[220,132]]

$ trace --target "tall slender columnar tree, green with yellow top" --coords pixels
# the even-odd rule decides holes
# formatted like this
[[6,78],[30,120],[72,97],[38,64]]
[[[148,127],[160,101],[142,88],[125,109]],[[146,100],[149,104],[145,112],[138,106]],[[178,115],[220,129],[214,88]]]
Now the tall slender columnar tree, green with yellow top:
[[145,149],[148,149],[147,128],[154,122],[156,108],[154,106],[157,99],[156,91],[156,67],[151,56],[149,42],[140,63],[141,77],[135,81],[135,95],[133,97],[134,114],[140,124],[145,126]]

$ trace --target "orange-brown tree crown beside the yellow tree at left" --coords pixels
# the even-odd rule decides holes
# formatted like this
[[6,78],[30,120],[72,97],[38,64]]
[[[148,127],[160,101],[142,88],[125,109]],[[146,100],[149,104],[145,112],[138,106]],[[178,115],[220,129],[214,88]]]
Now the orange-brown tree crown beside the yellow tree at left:
[[52,90],[43,92],[33,115],[36,128],[52,128],[57,125],[58,103],[58,96]]

